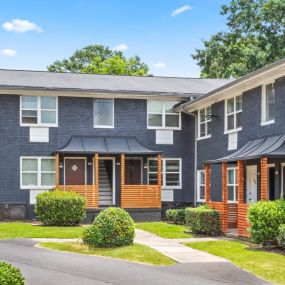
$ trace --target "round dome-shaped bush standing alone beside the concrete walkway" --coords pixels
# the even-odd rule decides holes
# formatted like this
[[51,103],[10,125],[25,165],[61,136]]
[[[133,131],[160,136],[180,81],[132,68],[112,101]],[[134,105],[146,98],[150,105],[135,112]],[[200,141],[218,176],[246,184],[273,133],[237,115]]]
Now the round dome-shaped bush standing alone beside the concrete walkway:
[[92,247],[116,247],[134,242],[135,226],[123,209],[108,208],[99,213],[92,226],[85,229],[83,242]]

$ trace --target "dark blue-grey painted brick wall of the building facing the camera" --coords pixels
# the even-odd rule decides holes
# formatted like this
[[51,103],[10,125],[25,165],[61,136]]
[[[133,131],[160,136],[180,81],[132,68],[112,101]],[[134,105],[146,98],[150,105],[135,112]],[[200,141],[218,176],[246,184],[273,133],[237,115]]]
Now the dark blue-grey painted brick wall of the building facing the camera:
[[[115,128],[95,129],[92,98],[59,97],[58,128],[49,129],[50,142],[30,143],[29,128],[19,124],[19,100],[0,96],[0,202],[29,200],[29,191],[20,190],[20,156],[51,155],[72,135],[135,136],[146,147],[162,150],[165,157],[181,157],[183,189],[175,190],[175,201],[193,201],[194,121],[189,116],[182,114],[182,130],[174,131],[173,145],[156,145],[155,130],[147,130],[146,100],[116,99]],[[118,171],[117,185],[119,177]]]

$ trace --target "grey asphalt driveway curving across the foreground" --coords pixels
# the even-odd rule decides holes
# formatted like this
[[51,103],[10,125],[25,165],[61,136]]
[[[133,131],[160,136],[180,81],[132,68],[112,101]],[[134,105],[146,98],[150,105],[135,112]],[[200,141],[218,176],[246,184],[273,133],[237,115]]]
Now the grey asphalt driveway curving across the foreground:
[[262,285],[229,262],[184,263],[168,267],[134,264],[34,247],[29,239],[0,241],[0,259],[19,267],[27,285]]

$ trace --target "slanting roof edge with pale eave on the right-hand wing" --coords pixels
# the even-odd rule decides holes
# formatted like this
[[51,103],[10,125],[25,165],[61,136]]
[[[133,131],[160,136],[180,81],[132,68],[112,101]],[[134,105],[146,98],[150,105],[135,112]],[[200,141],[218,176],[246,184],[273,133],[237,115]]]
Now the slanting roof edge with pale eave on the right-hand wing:
[[282,58],[281,60],[278,60],[276,62],[268,64],[268,65],[266,65],[266,66],[264,66],[264,67],[262,67],[260,69],[257,69],[257,70],[255,70],[253,72],[250,72],[250,73],[248,73],[248,74],[246,74],[246,75],[244,75],[244,76],[242,76],[242,77],[240,77],[240,78],[238,78],[238,79],[236,79],[236,80],[234,80],[234,81],[232,81],[230,83],[227,83],[227,84],[225,84],[225,85],[223,85],[223,86],[221,86],[221,87],[219,87],[217,89],[214,89],[214,90],[212,90],[212,91],[210,91],[210,92],[208,92],[208,93],[206,93],[206,94],[204,94],[204,95],[202,95],[202,96],[200,96],[200,97],[198,97],[198,98],[196,98],[196,99],[194,99],[192,101],[186,102],[186,103],[180,105],[179,107],[177,107],[176,111],[179,111],[181,109],[184,109],[186,107],[194,105],[195,103],[203,101],[204,99],[207,99],[207,98],[209,98],[209,97],[211,97],[211,96],[213,96],[215,94],[218,94],[221,91],[225,91],[226,89],[228,89],[230,87],[242,84],[243,82],[245,82],[248,79],[251,79],[251,78],[253,78],[255,76],[261,75],[264,72],[270,71],[273,68],[277,68],[277,67],[279,67],[279,66],[281,66],[283,64],[285,64],[285,58]]

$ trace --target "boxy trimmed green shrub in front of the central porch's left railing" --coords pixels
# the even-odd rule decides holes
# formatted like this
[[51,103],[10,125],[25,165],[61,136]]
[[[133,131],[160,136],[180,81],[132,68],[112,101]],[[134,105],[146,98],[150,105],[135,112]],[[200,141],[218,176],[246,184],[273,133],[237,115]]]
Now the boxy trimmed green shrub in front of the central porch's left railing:
[[35,213],[48,226],[76,226],[85,218],[85,199],[74,192],[52,191],[37,195]]

